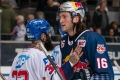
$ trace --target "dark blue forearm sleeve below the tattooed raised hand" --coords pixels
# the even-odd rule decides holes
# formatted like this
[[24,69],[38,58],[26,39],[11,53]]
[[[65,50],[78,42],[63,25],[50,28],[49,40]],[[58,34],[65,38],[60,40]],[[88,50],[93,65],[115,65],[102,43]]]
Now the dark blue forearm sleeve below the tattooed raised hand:
[[66,80],[71,80],[74,77],[73,67],[71,67],[69,61],[62,66],[62,70],[66,77]]

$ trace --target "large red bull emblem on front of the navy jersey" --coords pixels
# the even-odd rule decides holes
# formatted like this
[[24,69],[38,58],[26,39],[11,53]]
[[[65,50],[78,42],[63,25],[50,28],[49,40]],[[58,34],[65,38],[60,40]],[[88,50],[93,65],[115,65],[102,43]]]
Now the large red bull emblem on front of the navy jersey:
[[78,61],[78,63],[73,67],[73,69],[75,72],[79,72],[80,69],[90,69],[88,65],[89,65],[89,61],[85,59],[85,63]]

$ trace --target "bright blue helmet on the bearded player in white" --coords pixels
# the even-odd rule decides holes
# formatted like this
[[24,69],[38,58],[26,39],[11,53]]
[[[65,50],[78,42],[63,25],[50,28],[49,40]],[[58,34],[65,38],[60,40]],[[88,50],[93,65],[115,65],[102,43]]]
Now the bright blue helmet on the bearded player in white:
[[29,40],[39,40],[43,32],[49,35],[49,30],[49,23],[43,19],[30,20],[26,25],[27,37]]

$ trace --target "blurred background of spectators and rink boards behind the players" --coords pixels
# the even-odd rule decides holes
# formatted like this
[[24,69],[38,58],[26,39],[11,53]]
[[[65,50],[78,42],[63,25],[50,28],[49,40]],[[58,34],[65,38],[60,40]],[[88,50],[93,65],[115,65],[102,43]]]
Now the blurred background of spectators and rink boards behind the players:
[[83,5],[83,22],[87,29],[104,37],[115,80],[120,78],[120,72],[113,64],[113,60],[116,60],[120,65],[120,0],[0,0],[0,71],[5,77],[9,75],[14,57],[30,46],[25,30],[29,20],[47,20],[51,25],[51,40],[54,45],[59,44],[61,35],[56,12],[65,1],[76,1]]

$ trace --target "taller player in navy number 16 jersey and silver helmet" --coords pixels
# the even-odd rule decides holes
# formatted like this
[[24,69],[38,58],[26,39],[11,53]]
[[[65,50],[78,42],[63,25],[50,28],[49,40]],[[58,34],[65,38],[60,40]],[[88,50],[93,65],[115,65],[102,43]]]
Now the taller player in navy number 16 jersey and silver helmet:
[[84,54],[73,67],[73,80],[114,80],[106,42],[100,34],[86,30],[84,15],[83,6],[77,2],[64,2],[58,9],[57,19],[62,31],[68,33],[60,41],[63,64],[69,60],[71,49],[81,45]]

